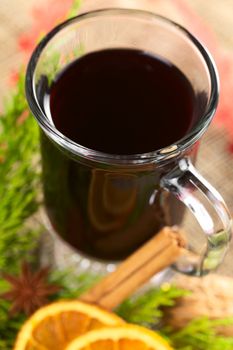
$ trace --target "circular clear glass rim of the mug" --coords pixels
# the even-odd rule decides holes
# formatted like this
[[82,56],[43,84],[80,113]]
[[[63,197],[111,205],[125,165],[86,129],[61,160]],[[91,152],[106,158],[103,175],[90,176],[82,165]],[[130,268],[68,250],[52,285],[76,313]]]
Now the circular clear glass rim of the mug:
[[[129,15],[134,17],[135,19],[138,17],[148,18],[150,20],[158,21],[160,20],[167,25],[172,27],[176,27],[182,32],[198,49],[201,54],[206,67],[208,69],[208,73],[210,76],[210,97],[208,101],[208,105],[206,107],[205,113],[201,116],[200,120],[196,125],[188,132],[184,137],[175,141],[174,143],[165,146],[161,149],[154,150],[147,153],[138,153],[133,155],[117,155],[117,154],[109,154],[104,153],[97,150],[89,149],[85,146],[82,146],[75,141],[69,139],[65,135],[63,135],[54,125],[49,122],[46,114],[40,107],[40,104],[37,100],[36,92],[35,92],[35,84],[34,84],[34,72],[37,66],[37,62],[40,58],[41,53],[43,52],[46,45],[50,42],[50,40],[56,36],[62,29],[68,27],[72,23],[77,23],[84,21],[85,19],[95,18],[99,16],[108,16],[108,15]],[[170,159],[175,157],[177,154],[184,152],[186,149],[191,147],[202,134],[206,131],[209,126],[219,99],[219,78],[218,72],[215,65],[215,62],[209,53],[208,49],[186,28],[182,25],[158,14],[155,14],[150,11],[137,10],[137,9],[123,9],[123,8],[108,8],[108,9],[100,9],[95,11],[86,12],[70,18],[58,26],[54,27],[37,45],[35,50],[33,51],[31,58],[29,60],[27,71],[26,71],[26,81],[25,81],[25,91],[26,97],[29,104],[29,107],[32,111],[32,114],[38,121],[41,128],[46,132],[46,134],[51,137],[56,143],[60,146],[64,147],[67,151],[70,151],[72,154],[80,156],[82,158],[101,161],[106,164],[127,164],[127,165],[135,165],[135,164],[145,164],[145,163],[159,163],[163,160]]]

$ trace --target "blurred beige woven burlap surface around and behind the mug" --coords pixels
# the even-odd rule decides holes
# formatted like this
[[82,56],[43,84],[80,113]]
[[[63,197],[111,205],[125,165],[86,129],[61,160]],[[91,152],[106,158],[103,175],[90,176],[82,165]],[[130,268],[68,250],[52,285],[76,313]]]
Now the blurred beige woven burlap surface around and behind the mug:
[[[41,3],[43,2],[44,0]],[[85,2],[84,0],[83,2],[83,11],[95,8],[95,2],[97,2],[98,7],[111,5],[140,7],[158,12],[156,0],[124,0],[124,2],[122,0],[86,0]],[[216,33],[219,44],[224,50],[233,53],[233,35],[231,35],[233,1],[186,0],[186,2]],[[164,8],[161,11],[163,14],[166,14],[167,3],[164,2]],[[17,39],[21,34],[30,31],[32,25],[30,10],[35,5],[38,6],[37,0],[1,0],[0,2],[0,106],[2,106],[3,97],[10,89],[9,76],[12,70],[17,69],[22,62]],[[177,16],[176,19],[179,17]],[[227,146],[228,140],[224,129],[212,125],[202,138],[196,166],[223,195],[233,213],[233,154],[228,152]],[[233,275],[232,255],[233,245],[221,267],[221,272]]]

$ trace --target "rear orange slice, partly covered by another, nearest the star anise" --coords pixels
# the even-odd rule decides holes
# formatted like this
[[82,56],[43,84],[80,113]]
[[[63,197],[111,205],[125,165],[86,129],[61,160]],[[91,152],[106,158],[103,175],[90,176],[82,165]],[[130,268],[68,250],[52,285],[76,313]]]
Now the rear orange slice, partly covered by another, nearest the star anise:
[[14,350],[63,350],[77,336],[124,321],[80,301],[59,301],[35,312],[23,325]]

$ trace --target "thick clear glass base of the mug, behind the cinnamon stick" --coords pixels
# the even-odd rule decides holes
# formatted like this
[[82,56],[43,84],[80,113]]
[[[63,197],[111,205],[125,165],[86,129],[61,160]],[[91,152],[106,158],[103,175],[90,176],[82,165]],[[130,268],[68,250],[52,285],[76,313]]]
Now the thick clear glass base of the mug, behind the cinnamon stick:
[[[105,262],[91,259],[65,242],[53,229],[49,218],[42,210],[40,213],[42,224],[45,228],[45,233],[41,242],[40,263],[42,266],[50,266],[54,270],[72,269],[77,274],[90,272],[96,275],[106,275],[113,272],[119,262]],[[158,286],[164,282],[171,280],[174,271],[167,268],[156,274],[143,289],[151,286]]]

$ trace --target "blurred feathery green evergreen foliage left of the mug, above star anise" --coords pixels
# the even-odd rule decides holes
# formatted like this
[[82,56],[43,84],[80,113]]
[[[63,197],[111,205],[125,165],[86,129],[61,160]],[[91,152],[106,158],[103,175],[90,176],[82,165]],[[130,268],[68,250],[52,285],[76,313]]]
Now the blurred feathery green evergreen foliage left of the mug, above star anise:
[[16,272],[36,243],[27,225],[38,209],[38,128],[24,96],[24,74],[0,116],[0,271]]

